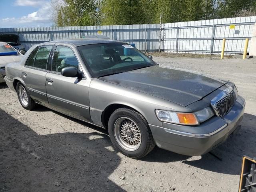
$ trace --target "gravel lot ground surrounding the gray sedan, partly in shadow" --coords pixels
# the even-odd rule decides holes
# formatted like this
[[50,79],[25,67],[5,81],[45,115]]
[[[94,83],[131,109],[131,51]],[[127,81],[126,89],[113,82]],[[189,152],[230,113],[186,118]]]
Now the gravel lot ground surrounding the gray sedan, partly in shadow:
[[42,106],[27,111],[0,84],[0,191],[238,191],[242,156],[256,156],[255,60],[153,59],[236,83],[246,110],[240,132],[213,150],[222,161],[157,147],[140,160],[127,158],[104,130]]

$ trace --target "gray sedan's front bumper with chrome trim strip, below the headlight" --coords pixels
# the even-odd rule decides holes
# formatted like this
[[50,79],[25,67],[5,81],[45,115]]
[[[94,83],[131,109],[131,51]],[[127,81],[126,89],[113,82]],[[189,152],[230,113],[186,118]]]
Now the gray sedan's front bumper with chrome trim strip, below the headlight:
[[149,125],[156,145],[178,154],[199,156],[224,142],[242,121],[245,101],[238,96],[234,106],[222,118],[214,116],[198,126],[163,123]]

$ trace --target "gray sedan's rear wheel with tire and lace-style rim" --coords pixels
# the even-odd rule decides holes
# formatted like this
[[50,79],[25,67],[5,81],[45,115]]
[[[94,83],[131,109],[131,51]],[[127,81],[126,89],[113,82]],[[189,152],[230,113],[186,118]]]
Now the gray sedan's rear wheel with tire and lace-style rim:
[[20,104],[22,107],[24,107],[26,110],[32,110],[35,107],[34,100],[30,97],[29,92],[25,88],[25,86],[21,83],[17,83],[16,92],[18,95],[18,99],[20,101]]

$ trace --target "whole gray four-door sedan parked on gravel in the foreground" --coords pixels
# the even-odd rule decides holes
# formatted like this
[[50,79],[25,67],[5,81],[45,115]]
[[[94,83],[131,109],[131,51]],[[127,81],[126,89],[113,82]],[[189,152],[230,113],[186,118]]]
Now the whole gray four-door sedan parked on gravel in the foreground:
[[238,130],[244,114],[234,83],[160,67],[115,40],[38,44],[6,70],[6,83],[25,109],[37,103],[106,128],[116,149],[131,158],[155,145],[205,154]]

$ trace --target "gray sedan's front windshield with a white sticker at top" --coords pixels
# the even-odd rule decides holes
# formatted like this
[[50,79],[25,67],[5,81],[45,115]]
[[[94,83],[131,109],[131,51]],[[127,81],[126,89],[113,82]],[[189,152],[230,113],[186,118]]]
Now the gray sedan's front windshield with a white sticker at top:
[[157,65],[142,52],[125,43],[79,46],[87,68],[94,77],[102,77]]

